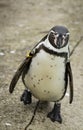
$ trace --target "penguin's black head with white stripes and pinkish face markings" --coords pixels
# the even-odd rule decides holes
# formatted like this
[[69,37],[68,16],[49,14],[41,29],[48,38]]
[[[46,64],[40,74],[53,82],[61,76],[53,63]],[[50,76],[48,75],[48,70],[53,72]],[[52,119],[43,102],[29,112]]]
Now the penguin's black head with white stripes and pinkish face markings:
[[69,31],[64,26],[55,26],[49,32],[48,40],[53,47],[61,49],[68,44]]

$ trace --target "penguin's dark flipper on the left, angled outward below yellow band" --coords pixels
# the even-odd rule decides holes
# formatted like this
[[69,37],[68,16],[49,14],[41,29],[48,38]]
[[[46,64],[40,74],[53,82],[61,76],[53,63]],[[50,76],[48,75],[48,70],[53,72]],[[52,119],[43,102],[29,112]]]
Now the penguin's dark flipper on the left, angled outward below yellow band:
[[17,69],[17,71],[15,72],[13,78],[12,78],[12,81],[10,83],[10,86],[9,86],[9,92],[12,93],[24,68],[26,67],[26,65],[28,65],[29,61],[31,60],[31,57],[27,57],[23,62],[22,64],[19,66],[19,68]]

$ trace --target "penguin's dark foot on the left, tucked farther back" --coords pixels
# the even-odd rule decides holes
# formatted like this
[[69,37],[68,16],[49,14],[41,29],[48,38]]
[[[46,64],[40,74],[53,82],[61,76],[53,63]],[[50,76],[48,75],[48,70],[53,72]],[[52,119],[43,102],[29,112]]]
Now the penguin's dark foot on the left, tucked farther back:
[[20,101],[23,101],[24,105],[31,104],[31,102],[32,102],[31,96],[32,96],[32,94],[30,91],[24,90],[24,92],[20,98]]

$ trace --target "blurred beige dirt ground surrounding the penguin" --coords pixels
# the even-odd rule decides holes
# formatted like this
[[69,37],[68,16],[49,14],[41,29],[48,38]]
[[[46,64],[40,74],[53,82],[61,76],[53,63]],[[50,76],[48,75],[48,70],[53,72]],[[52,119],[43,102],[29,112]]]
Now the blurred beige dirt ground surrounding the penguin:
[[[36,104],[24,106],[20,96],[24,86],[19,80],[13,94],[9,84],[35,43],[55,25],[70,30],[70,48],[83,36],[82,0],[0,0],[0,130],[24,130]],[[83,41],[71,56],[74,78],[74,101],[62,100],[63,123],[47,117],[52,104],[40,104],[28,130],[83,130]]]

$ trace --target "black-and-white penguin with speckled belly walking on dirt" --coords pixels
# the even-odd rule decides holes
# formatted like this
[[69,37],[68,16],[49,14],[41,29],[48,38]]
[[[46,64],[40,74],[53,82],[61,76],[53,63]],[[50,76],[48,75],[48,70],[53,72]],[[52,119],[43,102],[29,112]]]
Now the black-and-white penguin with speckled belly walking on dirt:
[[38,42],[17,69],[9,86],[12,93],[22,76],[25,90],[24,104],[31,104],[32,96],[40,101],[54,102],[47,114],[52,122],[62,123],[61,103],[70,87],[69,103],[73,101],[73,75],[70,64],[69,31],[65,26],[54,26]]

